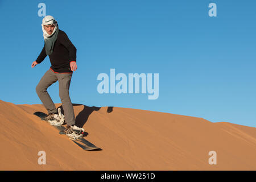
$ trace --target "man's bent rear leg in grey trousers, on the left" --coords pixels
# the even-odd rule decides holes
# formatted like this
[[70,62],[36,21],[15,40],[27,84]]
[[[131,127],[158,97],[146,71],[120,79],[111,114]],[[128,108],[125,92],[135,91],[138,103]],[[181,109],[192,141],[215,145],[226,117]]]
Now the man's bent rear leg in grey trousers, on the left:
[[46,73],[44,73],[44,76],[41,78],[39,84],[36,86],[36,93],[38,94],[40,100],[43,102],[44,107],[46,107],[48,114],[58,112],[52,102],[51,97],[47,92],[47,88],[56,81],[57,77],[55,76],[55,73],[53,73],[51,69],[49,69]]

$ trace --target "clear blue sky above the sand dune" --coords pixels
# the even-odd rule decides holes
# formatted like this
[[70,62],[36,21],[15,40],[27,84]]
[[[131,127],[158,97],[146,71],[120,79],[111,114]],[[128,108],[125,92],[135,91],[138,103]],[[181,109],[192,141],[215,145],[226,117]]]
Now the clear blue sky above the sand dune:
[[[210,17],[209,3],[217,17]],[[0,100],[42,104],[35,88],[49,57],[39,3],[77,48],[72,103],[201,117],[256,127],[256,1],[5,1],[0,0]],[[4,23],[3,23],[4,22]],[[100,94],[100,73],[159,73],[159,97]],[[60,103],[56,82],[48,92]]]

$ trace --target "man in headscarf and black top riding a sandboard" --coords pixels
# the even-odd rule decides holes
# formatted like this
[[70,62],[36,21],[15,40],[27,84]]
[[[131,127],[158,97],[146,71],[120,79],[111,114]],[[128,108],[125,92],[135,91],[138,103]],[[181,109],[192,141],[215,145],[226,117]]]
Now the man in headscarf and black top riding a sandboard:
[[59,30],[57,21],[53,16],[48,15],[43,18],[42,30],[44,47],[38,59],[32,63],[31,67],[34,68],[47,55],[49,56],[51,68],[44,74],[36,86],[36,93],[48,111],[48,115],[44,119],[50,122],[51,125],[62,125],[64,122],[47,92],[49,86],[59,81],[59,96],[64,110],[65,122],[67,123],[64,131],[71,138],[81,137],[84,129],[75,125],[75,114],[69,97],[71,77],[73,71],[77,69],[76,47],[73,46],[67,34]]

